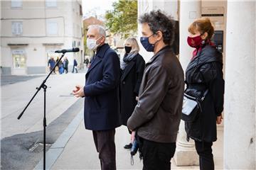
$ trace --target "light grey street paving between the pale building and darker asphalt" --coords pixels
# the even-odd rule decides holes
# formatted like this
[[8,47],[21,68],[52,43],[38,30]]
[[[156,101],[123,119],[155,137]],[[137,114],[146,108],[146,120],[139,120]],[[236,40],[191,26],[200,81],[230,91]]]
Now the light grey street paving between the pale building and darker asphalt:
[[[13,77],[16,81],[15,77]],[[34,77],[26,81],[1,86],[1,139],[24,132],[36,132],[43,128],[43,90],[28,106],[20,120],[18,115],[36,93],[45,76]],[[85,74],[55,74],[46,82],[46,118],[47,124],[58,118],[70,106],[78,101],[71,93],[76,84],[85,84]]]

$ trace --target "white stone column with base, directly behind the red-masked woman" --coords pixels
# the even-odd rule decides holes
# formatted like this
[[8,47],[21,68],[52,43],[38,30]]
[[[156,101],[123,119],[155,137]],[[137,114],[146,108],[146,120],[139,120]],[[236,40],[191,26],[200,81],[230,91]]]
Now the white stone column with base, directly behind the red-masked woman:
[[[180,1],[180,55],[179,60],[184,72],[191,60],[193,48],[187,44],[188,26],[193,23],[196,18],[201,17],[201,1]],[[196,153],[195,144],[193,140],[186,141],[186,132],[184,122],[181,120],[179,127],[178,139],[176,142],[176,153],[174,155],[174,162],[177,166],[198,165],[199,159]]]

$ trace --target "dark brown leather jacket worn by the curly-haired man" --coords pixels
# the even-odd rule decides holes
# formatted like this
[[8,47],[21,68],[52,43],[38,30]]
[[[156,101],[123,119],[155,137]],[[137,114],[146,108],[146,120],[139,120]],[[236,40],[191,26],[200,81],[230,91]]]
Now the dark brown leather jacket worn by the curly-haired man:
[[139,101],[127,127],[139,137],[154,142],[176,142],[181,121],[184,74],[170,46],[149,62],[139,89]]

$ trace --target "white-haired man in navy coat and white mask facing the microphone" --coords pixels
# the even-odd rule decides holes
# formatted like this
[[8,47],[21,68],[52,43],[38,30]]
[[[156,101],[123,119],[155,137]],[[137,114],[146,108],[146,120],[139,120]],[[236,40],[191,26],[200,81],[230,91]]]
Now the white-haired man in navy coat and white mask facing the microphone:
[[102,26],[90,26],[87,47],[95,52],[85,76],[85,86],[77,85],[76,97],[85,97],[85,128],[92,130],[101,169],[116,169],[114,134],[119,123],[120,63],[117,53],[105,43]]

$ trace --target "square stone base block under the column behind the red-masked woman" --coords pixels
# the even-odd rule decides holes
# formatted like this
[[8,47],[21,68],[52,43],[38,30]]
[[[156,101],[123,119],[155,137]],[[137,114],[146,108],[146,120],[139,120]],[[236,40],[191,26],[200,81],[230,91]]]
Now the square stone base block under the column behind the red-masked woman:
[[199,157],[196,149],[177,148],[174,154],[174,162],[176,166],[193,166],[199,165]]

